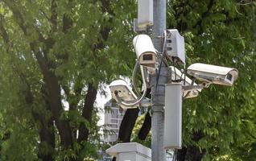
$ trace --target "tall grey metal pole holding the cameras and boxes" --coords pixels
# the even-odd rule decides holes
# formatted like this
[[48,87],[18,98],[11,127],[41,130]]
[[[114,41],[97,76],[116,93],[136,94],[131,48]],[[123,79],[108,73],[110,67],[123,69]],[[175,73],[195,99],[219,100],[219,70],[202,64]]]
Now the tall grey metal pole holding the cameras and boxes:
[[[160,36],[166,29],[166,0],[154,0],[154,26],[153,43],[155,48],[162,52],[163,44]],[[160,63],[160,60],[158,60]],[[167,68],[164,63],[159,73],[157,90],[155,91],[155,81],[157,76],[151,76],[151,99],[152,99],[152,161],[165,161],[165,151],[163,148],[163,106],[165,84],[167,83]]]

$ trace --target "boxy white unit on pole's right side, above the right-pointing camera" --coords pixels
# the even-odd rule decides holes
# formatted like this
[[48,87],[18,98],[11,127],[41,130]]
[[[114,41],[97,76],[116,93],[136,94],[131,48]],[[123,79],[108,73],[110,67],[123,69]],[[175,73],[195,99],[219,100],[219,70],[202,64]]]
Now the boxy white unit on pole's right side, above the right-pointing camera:
[[184,37],[180,35],[179,31],[177,29],[167,30],[166,41],[167,57],[170,60],[174,58],[181,64],[186,64]]

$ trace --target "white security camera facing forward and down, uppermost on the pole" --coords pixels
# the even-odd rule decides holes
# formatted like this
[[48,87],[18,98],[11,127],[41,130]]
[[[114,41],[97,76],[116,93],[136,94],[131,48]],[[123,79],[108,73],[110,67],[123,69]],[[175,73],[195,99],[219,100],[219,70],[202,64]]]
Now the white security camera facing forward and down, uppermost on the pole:
[[133,40],[138,63],[145,66],[151,73],[155,72],[156,52],[151,37],[137,35]]

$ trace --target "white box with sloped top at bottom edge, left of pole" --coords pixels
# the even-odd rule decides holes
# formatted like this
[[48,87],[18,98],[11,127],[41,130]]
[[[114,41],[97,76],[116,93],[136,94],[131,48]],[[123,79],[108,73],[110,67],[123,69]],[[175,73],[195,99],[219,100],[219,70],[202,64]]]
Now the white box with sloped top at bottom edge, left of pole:
[[151,149],[137,142],[118,143],[105,152],[117,161],[151,161]]

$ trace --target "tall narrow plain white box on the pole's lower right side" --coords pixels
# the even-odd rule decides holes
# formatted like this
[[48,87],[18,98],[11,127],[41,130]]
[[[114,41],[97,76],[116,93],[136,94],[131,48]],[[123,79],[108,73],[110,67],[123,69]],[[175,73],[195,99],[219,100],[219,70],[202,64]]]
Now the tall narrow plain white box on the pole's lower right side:
[[182,141],[182,85],[165,85],[164,134],[165,149],[181,149]]

